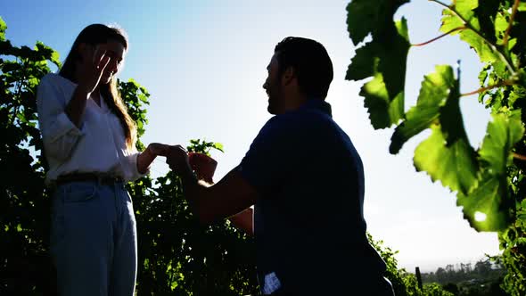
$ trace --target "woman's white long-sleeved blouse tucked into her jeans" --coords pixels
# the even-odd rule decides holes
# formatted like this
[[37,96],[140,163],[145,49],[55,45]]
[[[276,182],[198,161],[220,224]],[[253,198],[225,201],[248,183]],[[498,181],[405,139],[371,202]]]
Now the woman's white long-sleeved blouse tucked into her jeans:
[[[104,173],[134,181],[144,176],[137,170],[137,152],[127,149],[124,130],[104,100],[93,98],[76,127],[65,113],[77,84],[57,74],[47,74],[37,89],[38,124],[49,163],[45,182],[70,173]],[[148,174],[148,172],[146,172]]]

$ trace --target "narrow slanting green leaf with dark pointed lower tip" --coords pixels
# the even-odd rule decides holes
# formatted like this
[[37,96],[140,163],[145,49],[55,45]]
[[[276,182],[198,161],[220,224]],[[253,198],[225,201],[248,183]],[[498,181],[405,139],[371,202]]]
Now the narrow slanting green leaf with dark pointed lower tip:
[[398,153],[407,140],[439,119],[440,107],[455,86],[455,77],[453,69],[448,65],[436,66],[435,69],[434,73],[423,78],[416,106],[407,111],[406,119],[396,127],[391,136],[390,153]]

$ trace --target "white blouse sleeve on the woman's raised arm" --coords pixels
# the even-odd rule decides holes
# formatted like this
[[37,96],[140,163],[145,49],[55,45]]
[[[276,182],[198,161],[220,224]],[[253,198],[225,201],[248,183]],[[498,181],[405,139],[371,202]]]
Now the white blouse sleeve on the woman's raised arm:
[[65,113],[67,99],[49,76],[42,78],[37,88],[38,124],[45,153],[57,160],[69,159],[83,136]]

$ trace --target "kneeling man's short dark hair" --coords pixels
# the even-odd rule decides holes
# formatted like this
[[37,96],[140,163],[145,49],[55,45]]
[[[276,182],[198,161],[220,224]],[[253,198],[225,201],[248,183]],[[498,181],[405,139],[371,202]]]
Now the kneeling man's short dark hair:
[[325,99],[333,81],[333,62],[319,42],[303,37],[285,37],[275,45],[278,77],[292,67],[300,90],[308,98]]

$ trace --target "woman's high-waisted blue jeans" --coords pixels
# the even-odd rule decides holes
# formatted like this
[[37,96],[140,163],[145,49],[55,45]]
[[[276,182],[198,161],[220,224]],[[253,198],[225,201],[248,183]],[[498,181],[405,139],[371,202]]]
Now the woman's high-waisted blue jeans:
[[133,296],[136,218],[124,183],[59,185],[50,250],[62,296]]

